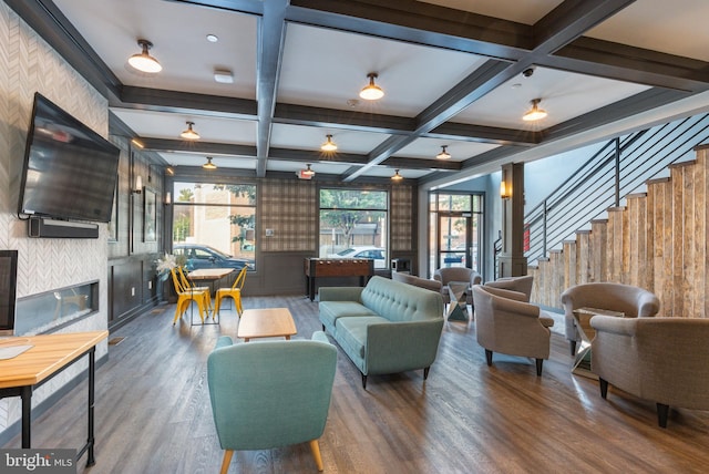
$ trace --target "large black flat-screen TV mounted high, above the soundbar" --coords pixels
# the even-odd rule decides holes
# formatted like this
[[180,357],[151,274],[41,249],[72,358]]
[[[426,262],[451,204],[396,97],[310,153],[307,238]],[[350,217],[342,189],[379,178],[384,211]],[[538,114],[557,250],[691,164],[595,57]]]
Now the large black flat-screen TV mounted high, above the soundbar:
[[117,147],[35,93],[18,213],[110,221],[119,158]]

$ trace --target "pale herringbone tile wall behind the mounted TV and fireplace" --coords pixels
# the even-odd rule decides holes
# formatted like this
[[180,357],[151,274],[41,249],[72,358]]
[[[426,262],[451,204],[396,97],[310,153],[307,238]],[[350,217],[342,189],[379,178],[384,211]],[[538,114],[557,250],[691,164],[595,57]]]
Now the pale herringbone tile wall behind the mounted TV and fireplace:
[[[100,280],[99,312],[62,331],[105,329],[106,226],[101,225],[99,239],[31,239],[27,237],[27,223],[17,216],[27,128],[37,91],[107,136],[107,100],[0,2],[0,248],[19,250],[18,298]],[[96,356],[102,357],[106,350],[105,344],[99,347]],[[81,370],[72,369],[39,389],[33,404]],[[0,430],[19,420],[19,400],[0,401]]]

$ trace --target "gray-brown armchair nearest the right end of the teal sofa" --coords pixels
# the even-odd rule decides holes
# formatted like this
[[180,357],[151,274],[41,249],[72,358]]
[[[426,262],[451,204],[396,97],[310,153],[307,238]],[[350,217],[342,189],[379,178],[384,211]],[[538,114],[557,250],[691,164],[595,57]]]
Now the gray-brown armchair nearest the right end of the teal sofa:
[[485,349],[487,365],[492,365],[493,352],[528,357],[536,359],[536,374],[542,375],[554,320],[540,317],[540,308],[524,299],[518,291],[474,286],[475,334]]

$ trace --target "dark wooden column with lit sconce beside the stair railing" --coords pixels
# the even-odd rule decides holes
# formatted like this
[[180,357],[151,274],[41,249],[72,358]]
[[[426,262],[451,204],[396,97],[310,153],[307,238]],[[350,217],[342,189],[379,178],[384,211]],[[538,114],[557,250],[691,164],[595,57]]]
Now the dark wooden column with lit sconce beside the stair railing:
[[524,164],[507,163],[502,166],[502,253],[501,277],[520,277],[527,274],[524,256]]

